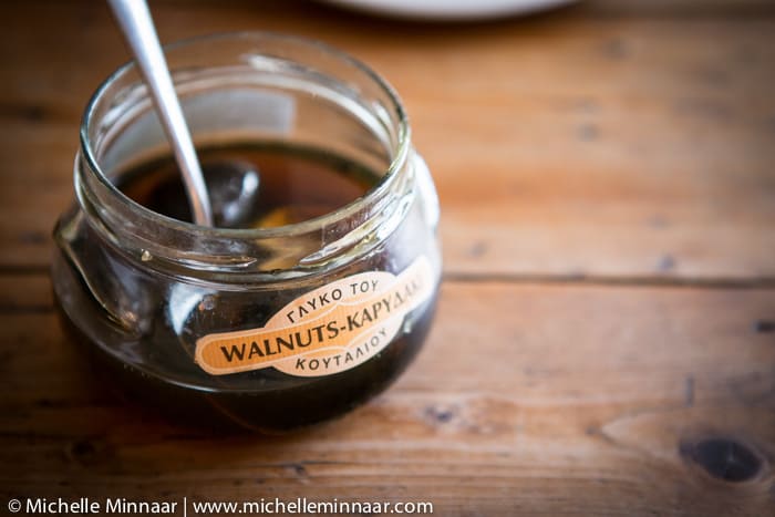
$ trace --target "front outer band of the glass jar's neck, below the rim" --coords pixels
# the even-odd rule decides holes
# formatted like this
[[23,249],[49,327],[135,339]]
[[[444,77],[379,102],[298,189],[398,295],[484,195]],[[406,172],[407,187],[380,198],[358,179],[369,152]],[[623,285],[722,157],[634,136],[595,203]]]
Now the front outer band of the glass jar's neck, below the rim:
[[364,197],[334,213],[278,228],[209,228],[148,210],[101,180],[79,154],[75,192],[90,225],[144,267],[223,281],[224,275],[296,278],[369,254],[404,219],[414,198],[414,152]]

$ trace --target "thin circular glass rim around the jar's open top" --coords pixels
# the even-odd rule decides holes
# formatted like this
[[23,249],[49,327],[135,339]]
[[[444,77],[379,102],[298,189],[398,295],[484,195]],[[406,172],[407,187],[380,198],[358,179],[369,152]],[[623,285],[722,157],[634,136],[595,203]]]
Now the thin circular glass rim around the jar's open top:
[[165,44],[163,45],[163,51],[166,55],[170,51],[175,51],[192,44],[198,44],[204,42],[218,42],[224,40],[237,41],[242,39],[277,43],[287,42],[299,46],[307,46],[309,49],[322,51],[326,54],[338,59],[341,62],[347,63],[355,68],[360,72],[364,73],[366,77],[369,77],[388,96],[388,99],[392,103],[391,107],[394,110],[396,115],[397,139],[394,149],[391,149],[393,151],[393,156],[384,174],[365,194],[363,194],[363,196],[353,199],[352,201],[349,201],[348,204],[341,207],[338,207],[335,210],[323,214],[318,217],[306,219],[303,221],[283,225],[279,227],[208,227],[197,225],[195,223],[175,219],[173,217],[168,217],[163,214],[156,213],[126,196],[120,188],[117,188],[113,184],[113,182],[110,180],[110,178],[107,177],[107,175],[105,175],[105,173],[99,164],[94,149],[91,145],[91,138],[89,136],[89,131],[91,127],[91,123],[93,122],[97,104],[103,100],[107,89],[120,77],[136,69],[135,61],[132,60],[116,69],[113,73],[111,73],[107,76],[107,79],[105,79],[97,86],[97,89],[94,91],[86,104],[80,126],[80,154],[85,158],[89,167],[95,173],[94,176],[106,188],[106,192],[111,195],[111,197],[121,205],[123,205],[125,208],[141,216],[142,218],[151,220],[155,225],[162,225],[173,231],[192,231],[216,239],[264,239],[296,237],[307,234],[309,231],[320,229],[322,227],[326,227],[329,223],[333,223],[335,220],[339,220],[343,217],[348,217],[359,211],[363,206],[369,205],[371,203],[375,203],[378,199],[384,196],[385,193],[390,189],[390,186],[394,182],[395,177],[399,175],[400,170],[404,168],[411,148],[411,130],[409,125],[409,117],[396,91],[393,89],[393,86],[391,86],[391,84],[386,80],[384,80],[380,74],[378,74],[374,70],[372,70],[362,61],[358,60],[356,58],[350,55],[349,53],[342,50],[337,49],[335,46],[329,45],[319,40],[272,31],[216,32],[205,35],[197,35]]

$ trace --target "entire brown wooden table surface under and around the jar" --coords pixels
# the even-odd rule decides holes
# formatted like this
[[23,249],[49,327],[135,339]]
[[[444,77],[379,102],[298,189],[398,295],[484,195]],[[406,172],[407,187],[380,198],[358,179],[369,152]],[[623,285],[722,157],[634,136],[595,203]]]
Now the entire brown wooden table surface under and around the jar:
[[3,4],[2,511],[277,496],[775,515],[773,2],[590,0],[455,25],[152,7],[164,41],[293,32],[396,86],[443,205],[438,317],[391,390],[290,436],[216,436],[95,390],[56,324],[50,230],[82,108],[127,53],[101,2]]

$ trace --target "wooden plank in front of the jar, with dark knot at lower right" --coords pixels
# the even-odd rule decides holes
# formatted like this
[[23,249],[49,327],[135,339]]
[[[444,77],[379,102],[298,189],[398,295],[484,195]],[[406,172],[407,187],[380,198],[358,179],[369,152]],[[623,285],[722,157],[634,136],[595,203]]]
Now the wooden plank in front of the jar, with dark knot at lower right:
[[[31,291],[32,307],[48,303]],[[0,494],[767,515],[774,319],[775,290],[447,282],[395,386],[339,421],[262,437],[121,404],[53,313],[0,313]],[[745,480],[702,466],[719,459],[703,448],[711,438],[751,452]]]

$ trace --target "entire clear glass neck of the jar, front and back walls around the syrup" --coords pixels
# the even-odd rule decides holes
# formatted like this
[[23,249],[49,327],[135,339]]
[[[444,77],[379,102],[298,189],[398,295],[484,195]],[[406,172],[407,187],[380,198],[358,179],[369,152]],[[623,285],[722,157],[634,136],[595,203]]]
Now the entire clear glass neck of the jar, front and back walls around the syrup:
[[75,162],[81,208],[115,248],[174,275],[277,280],[365,255],[404,218],[414,195],[409,124],[394,91],[365,65],[318,43],[266,33],[192,40],[165,53],[195,142],[238,134],[331,143],[335,153],[371,159],[368,166],[382,167],[382,177],[335,211],[278,228],[209,228],[154,213],[114,185],[122,161],[125,166],[164,145],[146,89],[127,64],[92,97]]

